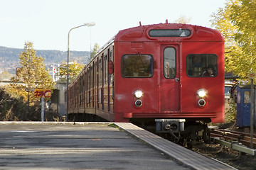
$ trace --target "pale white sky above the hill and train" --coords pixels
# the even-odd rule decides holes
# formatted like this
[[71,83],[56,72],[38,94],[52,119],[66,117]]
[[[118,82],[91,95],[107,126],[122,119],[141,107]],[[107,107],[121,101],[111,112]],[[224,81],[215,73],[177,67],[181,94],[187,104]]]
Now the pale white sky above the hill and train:
[[181,16],[190,23],[212,28],[210,19],[225,0],[0,0],[0,46],[35,50],[90,51],[102,47],[119,30],[142,25],[173,23]]

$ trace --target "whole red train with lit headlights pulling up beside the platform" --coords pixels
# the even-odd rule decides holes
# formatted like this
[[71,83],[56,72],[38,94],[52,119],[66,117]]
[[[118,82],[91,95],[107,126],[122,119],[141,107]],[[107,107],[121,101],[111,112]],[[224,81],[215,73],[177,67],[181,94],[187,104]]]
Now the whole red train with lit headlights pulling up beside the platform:
[[206,139],[206,123],[224,122],[223,36],[168,21],[120,30],[70,84],[68,100],[68,120],[153,121],[176,140]]

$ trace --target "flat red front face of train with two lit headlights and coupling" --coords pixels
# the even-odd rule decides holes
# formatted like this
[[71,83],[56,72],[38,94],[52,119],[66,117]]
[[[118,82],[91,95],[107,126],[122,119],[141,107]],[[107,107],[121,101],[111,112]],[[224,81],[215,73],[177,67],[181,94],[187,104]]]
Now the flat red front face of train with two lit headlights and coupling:
[[[119,31],[114,40],[114,113],[118,122],[154,120],[158,132],[198,133],[206,128],[202,123],[223,123],[222,35],[171,23]],[[199,128],[191,132],[192,127]]]

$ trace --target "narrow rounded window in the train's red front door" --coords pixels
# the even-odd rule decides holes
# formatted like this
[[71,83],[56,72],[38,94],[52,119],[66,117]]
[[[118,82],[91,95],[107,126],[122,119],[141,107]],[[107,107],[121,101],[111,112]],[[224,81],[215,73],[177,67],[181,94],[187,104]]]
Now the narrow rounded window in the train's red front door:
[[166,79],[176,77],[176,50],[174,47],[164,49],[164,77]]

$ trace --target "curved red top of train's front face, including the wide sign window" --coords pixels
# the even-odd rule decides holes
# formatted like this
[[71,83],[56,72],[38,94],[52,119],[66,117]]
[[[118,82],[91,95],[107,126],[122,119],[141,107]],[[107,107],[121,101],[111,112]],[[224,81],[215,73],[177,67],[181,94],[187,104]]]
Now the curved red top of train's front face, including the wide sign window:
[[[220,41],[224,38],[218,30],[181,23],[159,23],[120,30],[114,42],[123,41]],[[154,31],[154,33],[153,33]],[[165,33],[164,33],[165,32]]]

